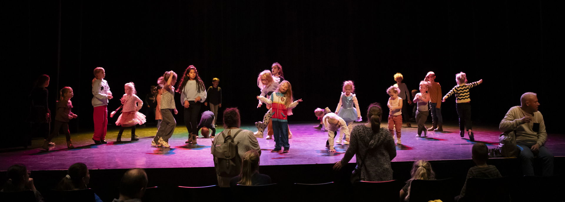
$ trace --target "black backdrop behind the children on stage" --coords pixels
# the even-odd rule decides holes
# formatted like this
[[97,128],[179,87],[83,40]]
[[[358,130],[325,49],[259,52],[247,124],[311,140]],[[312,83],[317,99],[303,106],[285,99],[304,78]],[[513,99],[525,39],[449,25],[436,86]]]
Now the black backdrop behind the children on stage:
[[[561,133],[557,90],[563,71],[562,3],[558,1],[21,1],[8,17],[25,96],[38,74],[51,76],[50,105],[71,86],[72,130],[92,130],[90,82],[106,69],[117,108],[123,85],[144,99],[163,72],[188,65],[211,85],[220,78],[223,106],[242,121],[261,120],[257,74],[282,64],[295,99],[290,121],[315,121],[316,107],[334,111],[341,84],[355,81],[363,116],[373,102],[386,108],[393,74],[418,89],[428,71],[446,94],[455,74],[469,82],[475,124],[498,125],[527,91],[538,93],[547,130]],[[8,9],[8,8],[5,8]],[[10,26],[12,26],[10,24]],[[60,32],[59,32],[60,30]],[[13,43],[13,44],[12,44]],[[60,54],[59,54],[60,51]],[[16,74],[16,75],[21,75]],[[176,94],[177,107],[179,94]],[[10,109],[15,110],[15,109]],[[53,110],[53,109],[52,109]],[[182,110],[176,115],[183,124]],[[142,110],[144,112],[144,110]],[[385,109],[385,119],[388,109]],[[455,98],[442,107],[457,122]],[[21,120],[24,117],[21,117]],[[365,120],[366,118],[363,117]],[[108,122],[114,122],[109,118]]]

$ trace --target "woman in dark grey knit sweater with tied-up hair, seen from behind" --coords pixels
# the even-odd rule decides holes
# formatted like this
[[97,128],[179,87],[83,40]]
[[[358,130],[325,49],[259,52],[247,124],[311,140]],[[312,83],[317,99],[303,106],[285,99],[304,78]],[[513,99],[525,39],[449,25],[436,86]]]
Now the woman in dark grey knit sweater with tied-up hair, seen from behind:
[[351,130],[351,142],[344,158],[333,165],[340,170],[353,155],[357,159],[355,174],[361,181],[383,182],[392,180],[390,161],[396,157],[396,147],[390,132],[380,128],[383,109],[379,103],[372,103],[367,110],[367,123],[356,125]]

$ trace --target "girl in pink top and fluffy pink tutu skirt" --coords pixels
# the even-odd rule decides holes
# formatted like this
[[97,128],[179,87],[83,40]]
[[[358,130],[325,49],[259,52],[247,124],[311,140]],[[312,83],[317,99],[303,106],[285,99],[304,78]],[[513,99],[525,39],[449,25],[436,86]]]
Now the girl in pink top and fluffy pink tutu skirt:
[[124,107],[121,109],[121,115],[116,121],[116,125],[120,126],[120,133],[118,133],[116,142],[121,142],[121,133],[128,127],[132,128],[132,140],[139,140],[136,135],[136,125],[146,122],[145,115],[138,112],[143,107],[143,101],[136,95],[136,86],[133,85],[133,82],[125,84],[124,91],[125,94],[120,99]]

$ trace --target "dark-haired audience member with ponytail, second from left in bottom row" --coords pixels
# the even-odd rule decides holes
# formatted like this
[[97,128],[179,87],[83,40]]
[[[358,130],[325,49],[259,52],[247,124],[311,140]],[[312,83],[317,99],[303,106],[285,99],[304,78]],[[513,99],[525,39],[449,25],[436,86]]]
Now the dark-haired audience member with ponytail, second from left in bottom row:
[[[60,191],[72,191],[72,190],[84,190],[90,182],[90,173],[88,168],[83,163],[72,164],[67,170],[67,175],[61,179],[59,185],[57,185],[56,190]],[[94,200],[96,202],[102,202],[98,195],[94,194]]]

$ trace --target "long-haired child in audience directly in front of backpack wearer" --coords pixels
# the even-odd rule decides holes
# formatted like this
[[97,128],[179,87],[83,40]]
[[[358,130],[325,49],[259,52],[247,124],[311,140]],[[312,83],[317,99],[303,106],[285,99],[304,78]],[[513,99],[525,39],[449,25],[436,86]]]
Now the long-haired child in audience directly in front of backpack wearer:
[[257,186],[271,184],[271,177],[259,173],[259,152],[249,150],[242,156],[241,173],[229,181],[230,187],[236,185]]

